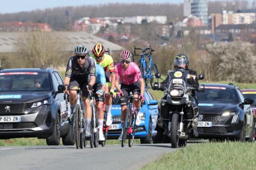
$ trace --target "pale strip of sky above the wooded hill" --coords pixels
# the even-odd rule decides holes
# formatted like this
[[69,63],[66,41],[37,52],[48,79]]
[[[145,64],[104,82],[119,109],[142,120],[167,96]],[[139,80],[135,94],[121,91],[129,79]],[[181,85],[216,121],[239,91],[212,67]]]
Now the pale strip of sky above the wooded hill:
[[[214,0],[220,1],[220,0]],[[231,1],[231,0],[229,0]],[[249,0],[252,2],[253,0]],[[2,0],[0,5],[0,13],[13,13],[20,11],[32,11],[35,9],[45,9],[65,6],[79,6],[79,5],[97,5],[108,3],[145,3],[145,0],[97,0],[97,1],[83,1],[83,0]],[[147,0],[146,3],[183,3],[184,0]]]

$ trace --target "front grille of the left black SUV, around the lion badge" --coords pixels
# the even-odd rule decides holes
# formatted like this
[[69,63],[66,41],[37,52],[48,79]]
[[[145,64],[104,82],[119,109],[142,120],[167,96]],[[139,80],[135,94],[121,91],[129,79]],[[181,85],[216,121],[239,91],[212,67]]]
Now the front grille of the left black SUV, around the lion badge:
[[[31,108],[33,103],[20,103],[20,104],[0,104],[0,115],[13,115],[13,114],[28,114],[35,113],[39,110],[46,111],[47,105],[41,105],[36,108]],[[7,111],[6,106],[10,107],[10,112]]]

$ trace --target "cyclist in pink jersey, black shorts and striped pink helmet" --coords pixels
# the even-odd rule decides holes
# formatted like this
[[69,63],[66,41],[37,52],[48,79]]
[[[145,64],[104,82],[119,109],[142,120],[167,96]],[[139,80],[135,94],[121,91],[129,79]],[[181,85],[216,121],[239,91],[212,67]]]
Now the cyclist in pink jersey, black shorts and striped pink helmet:
[[[144,80],[141,76],[140,68],[132,60],[132,54],[128,50],[124,50],[120,54],[121,62],[118,62],[115,66],[116,72],[116,89],[118,90],[118,96],[120,97],[121,94],[124,96],[129,96],[130,92],[133,93],[135,98],[141,98],[142,102],[145,101],[143,96],[144,93]],[[121,87],[118,84],[118,78],[120,77]],[[120,105],[121,105],[121,123],[124,121],[125,113],[127,110],[127,105],[129,104],[128,98],[120,97]],[[135,100],[134,105],[136,107],[136,122],[137,126],[141,123],[141,115],[140,115],[140,100]],[[130,128],[128,131],[132,131]],[[123,130],[122,130],[123,133]],[[118,140],[122,141],[122,133],[119,136]]]

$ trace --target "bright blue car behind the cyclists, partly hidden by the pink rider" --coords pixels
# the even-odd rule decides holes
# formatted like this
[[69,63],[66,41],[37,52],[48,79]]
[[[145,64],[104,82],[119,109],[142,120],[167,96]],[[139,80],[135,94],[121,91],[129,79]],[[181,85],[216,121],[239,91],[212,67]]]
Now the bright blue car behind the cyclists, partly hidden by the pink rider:
[[[145,89],[144,96],[145,102],[140,109],[143,115],[141,116],[141,124],[135,133],[135,138],[140,139],[140,143],[151,143],[152,136],[157,133],[154,129],[157,123],[158,101],[153,98],[152,94],[147,89]],[[122,131],[120,120],[121,106],[118,103],[118,99],[117,96],[112,105],[111,113],[113,123],[108,131],[108,139],[118,139]]]

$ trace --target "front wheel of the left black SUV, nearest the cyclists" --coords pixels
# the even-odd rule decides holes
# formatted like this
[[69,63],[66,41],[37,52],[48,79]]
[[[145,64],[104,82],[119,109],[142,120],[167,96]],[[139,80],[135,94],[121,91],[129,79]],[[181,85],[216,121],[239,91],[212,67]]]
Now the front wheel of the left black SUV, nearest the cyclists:
[[60,119],[59,119],[59,114],[57,113],[53,134],[46,139],[46,143],[47,145],[59,145],[59,142],[60,142]]

